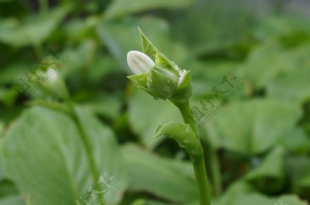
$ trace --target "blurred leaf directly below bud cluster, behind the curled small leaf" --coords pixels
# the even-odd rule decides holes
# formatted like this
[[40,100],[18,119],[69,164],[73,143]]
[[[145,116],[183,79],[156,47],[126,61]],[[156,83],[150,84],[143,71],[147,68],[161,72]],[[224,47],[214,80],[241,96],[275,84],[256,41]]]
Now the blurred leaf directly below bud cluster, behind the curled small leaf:
[[129,99],[130,126],[145,146],[154,148],[163,138],[153,138],[158,125],[168,122],[183,122],[178,109],[169,101],[154,100],[141,90]]

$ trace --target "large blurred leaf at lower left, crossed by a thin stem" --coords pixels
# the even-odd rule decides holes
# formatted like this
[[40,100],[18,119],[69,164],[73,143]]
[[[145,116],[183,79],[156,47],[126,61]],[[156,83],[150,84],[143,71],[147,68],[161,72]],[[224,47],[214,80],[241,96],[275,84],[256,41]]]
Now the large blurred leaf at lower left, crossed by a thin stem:
[[[116,202],[126,181],[113,133],[87,112],[76,110],[96,169],[101,175],[107,172],[114,176],[110,183],[122,184],[107,199]],[[96,183],[81,133],[64,114],[41,107],[28,109],[12,125],[3,150],[8,174],[32,197],[33,205],[75,204]]]

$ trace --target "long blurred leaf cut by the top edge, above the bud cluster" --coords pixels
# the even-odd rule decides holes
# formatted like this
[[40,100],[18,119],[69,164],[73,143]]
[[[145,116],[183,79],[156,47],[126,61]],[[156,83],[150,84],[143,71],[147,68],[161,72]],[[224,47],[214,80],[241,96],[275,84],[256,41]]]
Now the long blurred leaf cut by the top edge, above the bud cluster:
[[105,11],[105,18],[111,19],[115,17],[124,16],[135,12],[142,12],[156,8],[178,9],[189,6],[194,3],[193,0],[117,0],[113,1],[109,8]]

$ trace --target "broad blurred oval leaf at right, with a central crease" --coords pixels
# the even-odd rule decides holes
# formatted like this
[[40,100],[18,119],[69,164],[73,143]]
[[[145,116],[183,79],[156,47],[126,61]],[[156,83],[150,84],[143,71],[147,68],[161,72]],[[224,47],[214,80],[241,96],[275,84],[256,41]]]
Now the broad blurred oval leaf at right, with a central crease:
[[253,155],[280,142],[300,116],[299,107],[289,102],[249,100],[219,109],[200,127],[216,147]]

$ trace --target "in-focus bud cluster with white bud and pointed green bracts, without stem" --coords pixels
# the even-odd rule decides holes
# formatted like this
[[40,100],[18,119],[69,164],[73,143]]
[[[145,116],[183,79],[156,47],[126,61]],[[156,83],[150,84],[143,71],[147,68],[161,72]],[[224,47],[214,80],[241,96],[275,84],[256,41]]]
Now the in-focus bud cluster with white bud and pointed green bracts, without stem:
[[159,52],[142,32],[141,38],[143,52],[130,51],[127,54],[128,66],[134,73],[128,78],[154,98],[188,100],[192,96],[191,73],[180,69]]

